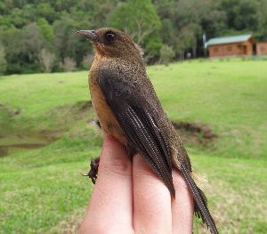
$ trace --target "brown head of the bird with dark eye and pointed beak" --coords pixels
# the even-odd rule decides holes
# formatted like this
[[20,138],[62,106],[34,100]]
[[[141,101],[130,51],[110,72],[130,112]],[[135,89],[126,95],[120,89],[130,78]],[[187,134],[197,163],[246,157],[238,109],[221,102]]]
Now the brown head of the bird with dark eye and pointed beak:
[[[136,58],[142,60],[142,49],[139,45],[116,28],[99,28],[80,30],[77,34],[85,36],[93,43],[95,53],[105,57]],[[134,56],[134,57],[133,57]]]

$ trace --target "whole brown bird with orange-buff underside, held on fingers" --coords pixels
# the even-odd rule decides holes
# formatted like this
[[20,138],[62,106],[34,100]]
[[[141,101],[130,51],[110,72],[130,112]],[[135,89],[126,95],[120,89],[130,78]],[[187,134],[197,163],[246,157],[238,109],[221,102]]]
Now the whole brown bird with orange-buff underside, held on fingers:
[[115,28],[77,33],[93,43],[95,56],[89,72],[89,87],[104,133],[122,142],[130,156],[139,152],[166,183],[173,197],[172,166],[178,168],[193,195],[195,214],[206,222],[212,233],[218,233],[207,209],[206,197],[192,179],[190,157],[146,73],[140,47]]

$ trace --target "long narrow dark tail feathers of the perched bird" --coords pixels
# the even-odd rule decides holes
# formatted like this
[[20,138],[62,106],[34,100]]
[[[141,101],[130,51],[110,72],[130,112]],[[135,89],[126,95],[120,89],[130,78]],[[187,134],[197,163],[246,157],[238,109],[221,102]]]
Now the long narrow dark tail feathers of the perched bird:
[[181,165],[181,172],[190,187],[190,191],[194,198],[194,210],[198,218],[201,218],[203,222],[206,222],[207,227],[210,229],[211,233],[219,233],[214,219],[209,213],[209,210],[206,206],[206,196],[202,190],[200,190],[196,183],[192,180],[190,173],[188,172],[185,165]]

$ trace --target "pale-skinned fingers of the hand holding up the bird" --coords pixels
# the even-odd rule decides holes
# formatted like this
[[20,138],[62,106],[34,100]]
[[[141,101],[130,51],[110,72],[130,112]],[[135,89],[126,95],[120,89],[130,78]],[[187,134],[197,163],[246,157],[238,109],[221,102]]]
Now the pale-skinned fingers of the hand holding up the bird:
[[104,138],[100,158],[79,234],[192,233],[193,198],[177,169],[173,169],[174,199],[142,156],[136,154],[131,161],[114,137]]

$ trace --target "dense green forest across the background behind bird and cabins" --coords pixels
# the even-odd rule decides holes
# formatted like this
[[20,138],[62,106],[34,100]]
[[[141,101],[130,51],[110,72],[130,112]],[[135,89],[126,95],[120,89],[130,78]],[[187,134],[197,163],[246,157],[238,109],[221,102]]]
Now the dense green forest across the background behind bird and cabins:
[[88,69],[92,45],[77,29],[113,26],[142,45],[148,62],[171,46],[176,59],[202,56],[202,36],[251,33],[267,40],[266,0],[4,0],[0,74]]

